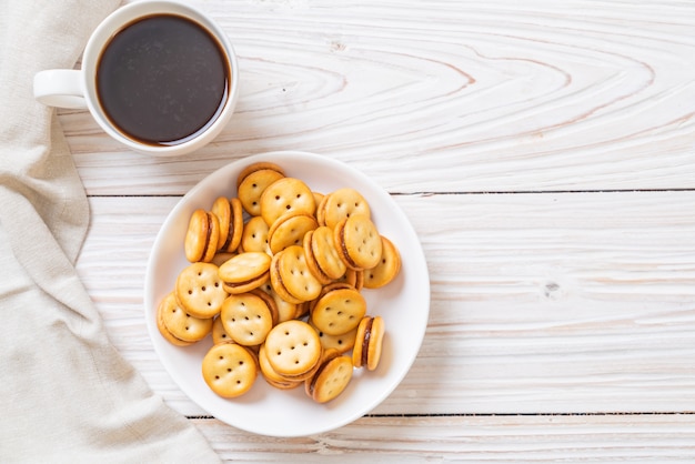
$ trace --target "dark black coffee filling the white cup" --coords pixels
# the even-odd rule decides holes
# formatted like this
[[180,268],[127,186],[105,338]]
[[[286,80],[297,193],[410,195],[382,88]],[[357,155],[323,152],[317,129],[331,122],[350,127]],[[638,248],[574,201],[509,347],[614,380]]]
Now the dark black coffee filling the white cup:
[[231,70],[214,37],[173,14],[145,17],[119,31],[102,52],[97,91],[125,137],[183,143],[224,108]]

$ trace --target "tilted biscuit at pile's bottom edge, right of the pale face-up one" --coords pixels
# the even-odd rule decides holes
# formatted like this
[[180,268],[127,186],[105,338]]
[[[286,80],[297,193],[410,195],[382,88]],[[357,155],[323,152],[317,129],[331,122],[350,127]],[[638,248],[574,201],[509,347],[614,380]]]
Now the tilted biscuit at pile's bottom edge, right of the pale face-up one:
[[335,400],[352,380],[352,359],[329,350],[316,373],[304,383],[304,392],[316,403]]

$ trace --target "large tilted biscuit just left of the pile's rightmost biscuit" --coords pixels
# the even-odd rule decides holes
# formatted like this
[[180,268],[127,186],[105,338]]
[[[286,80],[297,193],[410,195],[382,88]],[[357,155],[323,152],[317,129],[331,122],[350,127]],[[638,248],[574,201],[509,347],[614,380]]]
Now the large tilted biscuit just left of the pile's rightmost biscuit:
[[381,235],[374,223],[363,215],[343,219],[333,230],[340,258],[349,269],[362,271],[374,268],[381,258]]

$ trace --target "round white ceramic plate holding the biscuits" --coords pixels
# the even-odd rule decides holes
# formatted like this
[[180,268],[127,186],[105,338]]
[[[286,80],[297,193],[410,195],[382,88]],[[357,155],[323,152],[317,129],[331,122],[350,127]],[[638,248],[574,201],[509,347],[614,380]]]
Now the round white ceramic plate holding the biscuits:
[[[386,334],[375,371],[355,370],[348,389],[326,404],[314,403],[303,387],[275,390],[259,375],[244,395],[226,400],[214,394],[201,375],[201,362],[212,345],[210,337],[185,347],[168,343],[157,329],[160,300],[173,290],[179,272],[189,263],[183,239],[191,213],[210,209],[219,195],[235,195],[236,176],[248,164],[271,161],[286,175],[303,180],[314,191],[329,193],[342,186],[359,190],[370,203],[380,233],[401,251],[399,276],[379,290],[362,290],[367,314],[384,319]],[[430,312],[430,279],[422,246],[405,214],[393,199],[367,176],[332,159],[304,152],[273,152],[233,162],[193,188],[171,211],[157,236],[145,275],[145,316],[154,349],[179,387],[199,406],[235,427],[269,436],[305,436],[345,425],[385,400],[410,370],[425,333]]]

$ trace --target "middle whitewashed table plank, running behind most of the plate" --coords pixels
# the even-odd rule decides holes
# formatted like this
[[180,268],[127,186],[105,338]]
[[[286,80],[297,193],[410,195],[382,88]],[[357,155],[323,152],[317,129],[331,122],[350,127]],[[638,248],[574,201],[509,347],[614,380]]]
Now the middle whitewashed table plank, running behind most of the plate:
[[[694,411],[694,192],[395,200],[420,234],[432,306],[412,371],[375,413]],[[159,365],[142,309],[177,201],[92,198],[78,269],[119,351],[200,415]]]

